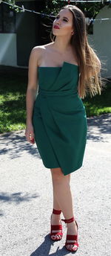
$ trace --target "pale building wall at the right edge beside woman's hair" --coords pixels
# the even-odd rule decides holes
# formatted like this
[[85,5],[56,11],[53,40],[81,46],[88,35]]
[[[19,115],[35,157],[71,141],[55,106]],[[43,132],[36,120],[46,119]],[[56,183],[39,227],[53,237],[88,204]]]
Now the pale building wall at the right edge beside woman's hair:
[[[100,10],[95,19],[110,18],[111,8],[105,6]],[[95,49],[101,62],[103,62],[101,75],[111,78],[111,20],[95,21],[93,25],[93,34],[88,35],[90,46]],[[105,65],[104,65],[105,63]]]

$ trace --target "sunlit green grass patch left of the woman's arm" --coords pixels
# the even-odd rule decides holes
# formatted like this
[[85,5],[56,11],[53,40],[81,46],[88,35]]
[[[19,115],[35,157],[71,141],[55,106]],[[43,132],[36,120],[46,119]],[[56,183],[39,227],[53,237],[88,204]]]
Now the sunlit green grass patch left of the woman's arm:
[[13,75],[0,80],[0,133],[25,128],[27,79]]

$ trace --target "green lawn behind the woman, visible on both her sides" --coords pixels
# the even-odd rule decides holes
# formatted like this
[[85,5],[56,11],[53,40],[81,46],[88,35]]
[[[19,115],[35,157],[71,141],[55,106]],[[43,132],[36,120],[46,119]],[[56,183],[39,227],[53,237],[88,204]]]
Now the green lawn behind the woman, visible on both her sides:
[[[26,122],[25,97],[27,76],[1,74],[0,80],[0,133],[24,129]],[[100,95],[83,100],[87,117],[111,112],[111,83]]]

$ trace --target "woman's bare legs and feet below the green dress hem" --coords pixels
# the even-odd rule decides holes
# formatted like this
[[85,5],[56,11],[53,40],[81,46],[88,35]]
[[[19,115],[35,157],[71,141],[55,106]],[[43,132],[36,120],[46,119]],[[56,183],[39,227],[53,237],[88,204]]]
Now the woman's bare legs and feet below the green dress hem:
[[[50,170],[53,181],[54,206],[58,207],[56,210],[61,209],[65,219],[70,219],[74,216],[73,199],[70,191],[70,174],[64,176],[61,168],[53,168]],[[53,221],[55,221],[54,215],[55,214],[53,214],[52,224],[58,225],[59,223],[53,223]],[[60,216],[58,215],[58,217],[58,220],[60,221]],[[67,223],[67,234],[77,234],[75,222]],[[72,245],[68,245],[67,249],[72,249],[72,247]]]

